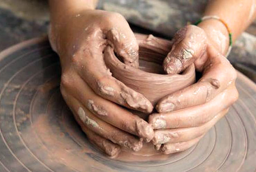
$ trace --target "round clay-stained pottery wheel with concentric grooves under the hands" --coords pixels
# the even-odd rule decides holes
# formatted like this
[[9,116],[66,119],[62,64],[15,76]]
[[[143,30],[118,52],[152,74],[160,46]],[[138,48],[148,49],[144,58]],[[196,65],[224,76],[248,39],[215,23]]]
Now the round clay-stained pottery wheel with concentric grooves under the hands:
[[46,38],[0,53],[0,171],[255,171],[256,85],[238,73],[239,99],[194,147],[109,159],[86,138],[59,90]]

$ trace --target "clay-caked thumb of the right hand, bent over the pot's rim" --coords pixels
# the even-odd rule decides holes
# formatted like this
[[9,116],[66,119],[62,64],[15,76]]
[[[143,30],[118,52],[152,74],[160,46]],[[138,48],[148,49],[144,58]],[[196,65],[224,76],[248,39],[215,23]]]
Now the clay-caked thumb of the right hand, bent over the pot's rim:
[[164,60],[167,74],[177,74],[200,58],[206,50],[206,34],[195,26],[187,25],[174,35],[174,45]]

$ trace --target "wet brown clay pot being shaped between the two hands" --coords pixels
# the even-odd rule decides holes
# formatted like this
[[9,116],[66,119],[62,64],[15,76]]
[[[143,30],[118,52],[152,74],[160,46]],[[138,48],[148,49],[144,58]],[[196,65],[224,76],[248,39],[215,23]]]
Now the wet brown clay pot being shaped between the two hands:
[[122,63],[110,46],[104,51],[106,65],[115,78],[144,95],[153,106],[160,98],[195,82],[194,64],[180,74],[164,74],[162,64],[173,42],[152,35],[135,36],[139,43],[138,69]]

